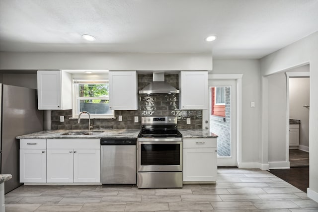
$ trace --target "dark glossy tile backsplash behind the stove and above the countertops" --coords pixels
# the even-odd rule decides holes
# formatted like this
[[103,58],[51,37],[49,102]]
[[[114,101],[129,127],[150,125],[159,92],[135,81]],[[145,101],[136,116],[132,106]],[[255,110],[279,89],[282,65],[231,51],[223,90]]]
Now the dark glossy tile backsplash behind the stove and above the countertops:
[[[178,74],[165,75],[166,82],[179,89]],[[152,74],[138,75],[138,90],[141,90],[153,81]],[[139,94],[139,110],[115,111],[114,119],[92,119],[93,129],[141,129],[141,116],[176,116],[179,129],[202,129],[202,110],[179,110],[179,94]],[[60,116],[65,116],[65,122],[60,122]],[[118,121],[122,116],[123,121]],[[134,117],[139,122],[134,122]],[[72,110],[52,110],[52,130],[87,130],[88,120],[72,118]],[[186,118],[191,124],[186,124]]]

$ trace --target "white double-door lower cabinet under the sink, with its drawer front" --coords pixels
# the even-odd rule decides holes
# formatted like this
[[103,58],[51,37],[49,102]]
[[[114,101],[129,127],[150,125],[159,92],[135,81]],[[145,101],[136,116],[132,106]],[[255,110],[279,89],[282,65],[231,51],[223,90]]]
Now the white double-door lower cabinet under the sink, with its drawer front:
[[47,145],[47,183],[100,182],[99,140],[48,139]]

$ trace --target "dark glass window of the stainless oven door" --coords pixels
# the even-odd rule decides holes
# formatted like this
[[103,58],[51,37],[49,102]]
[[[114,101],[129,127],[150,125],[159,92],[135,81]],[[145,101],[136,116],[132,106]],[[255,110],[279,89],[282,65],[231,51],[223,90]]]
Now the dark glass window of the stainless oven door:
[[141,144],[141,165],[180,165],[180,144]]

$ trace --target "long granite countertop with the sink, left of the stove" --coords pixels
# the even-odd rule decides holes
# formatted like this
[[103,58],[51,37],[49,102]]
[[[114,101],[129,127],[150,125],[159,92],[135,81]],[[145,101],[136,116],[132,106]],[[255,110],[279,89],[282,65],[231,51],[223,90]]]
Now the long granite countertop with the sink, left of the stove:
[[[62,134],[67,132],[79,132],[86,130],[47,130],[36,133],[26,134],[16,137],[17,139],[100,139],[100,138],[137,138],[140,130],[96,130],[104,131],[98,135],[89,136],[64,136]],[[94,132],[93,130],[90,132]]]

